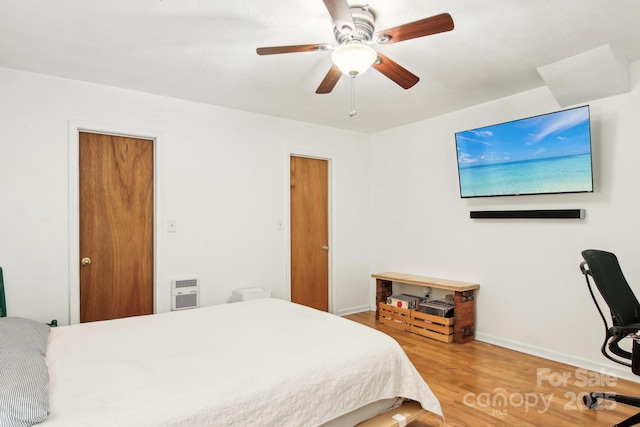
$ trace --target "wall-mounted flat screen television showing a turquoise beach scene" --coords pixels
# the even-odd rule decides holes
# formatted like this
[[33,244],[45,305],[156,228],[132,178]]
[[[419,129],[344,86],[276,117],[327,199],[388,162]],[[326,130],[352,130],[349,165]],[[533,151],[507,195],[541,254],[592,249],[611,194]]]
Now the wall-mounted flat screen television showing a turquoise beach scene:
[[460,196],[593,191],[589,106],[455,134]]

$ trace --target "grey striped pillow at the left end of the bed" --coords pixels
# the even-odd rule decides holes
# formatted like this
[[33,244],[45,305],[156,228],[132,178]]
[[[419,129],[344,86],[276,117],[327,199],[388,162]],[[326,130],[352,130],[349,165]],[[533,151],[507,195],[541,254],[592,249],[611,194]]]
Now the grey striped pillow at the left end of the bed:
[[49,414],[49,326],[0,318],[0,426],[31,426]]

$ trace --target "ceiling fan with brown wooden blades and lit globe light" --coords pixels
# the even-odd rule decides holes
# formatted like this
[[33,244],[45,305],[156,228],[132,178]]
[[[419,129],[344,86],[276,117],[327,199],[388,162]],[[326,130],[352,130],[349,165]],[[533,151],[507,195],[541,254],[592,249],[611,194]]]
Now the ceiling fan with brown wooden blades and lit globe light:
[[375,16],[368,5],[350,7],[347,0],[323,0],[323,2],[333,19],[333,32],[338,46],[303,44],[256,49],[258,55],[333,50],[331,55],[333,64],[318,86],[316,90],[318,94],[330,93],[342,74],[356,77],[368,70],[369,67],[375,68],[404,89],[409,89],[418,83],[420,80],[418,76],[382,53],[376,52],[370,45],[397,43],[453,30],[451,15],[442,13],[376,31]]

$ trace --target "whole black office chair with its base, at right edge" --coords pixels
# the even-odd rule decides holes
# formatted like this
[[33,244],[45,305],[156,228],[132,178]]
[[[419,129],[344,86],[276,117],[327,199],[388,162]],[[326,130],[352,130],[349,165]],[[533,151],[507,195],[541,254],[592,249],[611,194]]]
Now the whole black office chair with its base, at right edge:
[[[623,350],[618,345],[623,338],[640,330],[640,303],[638,303],[622,273],[618,258],[611,252],[595,249],[582,251],[582,257],[584,261],[580,263],[580,271],[585,276],[587,287],[606,329],[605,339],[600,351],[607,359],[628,366],[634,374],[640,375],[640,338],[634,337],[632,352]],[[596,300],[589,276],[591,276],[591,280],[596,284],[602,298],[609,306],[612,319],[611,326],[607,323],[607,319]],[[623,396],[615,393],[592,392],[584,396],[583,402],[588,408],[595,409],[598,405],[598,399],[611,400],[640,408],[640,397]],[[615,427],[627,427],[638,423],[640,423],[640,413],[616,424]]]

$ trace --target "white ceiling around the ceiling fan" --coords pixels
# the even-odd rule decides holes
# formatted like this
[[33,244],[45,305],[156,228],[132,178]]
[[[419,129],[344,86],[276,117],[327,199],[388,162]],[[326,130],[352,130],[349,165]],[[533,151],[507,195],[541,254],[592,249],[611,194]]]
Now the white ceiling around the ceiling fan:
[[[354,2],[351,5],[363,5]],[[0,67],[373,133],[544,86],[538,67],[611,45],[640,60],[639,0],[370,0],[376,30],[448,12],[451,32],[380,52],[420,77],[369,70],[315,90],[331,53],[321,0],[0,0]]]

